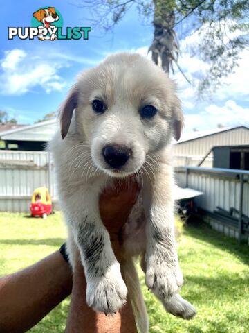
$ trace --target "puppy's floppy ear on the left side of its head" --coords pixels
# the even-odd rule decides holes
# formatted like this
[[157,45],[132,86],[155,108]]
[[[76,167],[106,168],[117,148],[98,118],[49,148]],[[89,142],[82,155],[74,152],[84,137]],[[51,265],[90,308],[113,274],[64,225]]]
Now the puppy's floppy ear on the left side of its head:
[[62,108],[59,111],[62,139],[64,139],[64,137],[66,137],[68,133],[71,119],[73,117],[73,110],[77,108],[77,99],[78,92],[75,87],[73,87],[73,89],[71,89],[71,92],[69,92],[66,101],[63,103]]

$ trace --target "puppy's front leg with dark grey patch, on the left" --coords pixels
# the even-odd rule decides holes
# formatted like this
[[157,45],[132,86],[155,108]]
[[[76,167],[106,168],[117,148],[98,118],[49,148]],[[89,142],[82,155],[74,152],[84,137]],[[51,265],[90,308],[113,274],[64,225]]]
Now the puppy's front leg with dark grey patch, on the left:
[[100,219],[98,200],[91,200],[91,195],[84,199],[80,212],[77,207],[77,212],[68,214],[66,220],[84,266],[86,302],[96,311],[116,313],[125,303],[127,287],[111,248],[109,233]]

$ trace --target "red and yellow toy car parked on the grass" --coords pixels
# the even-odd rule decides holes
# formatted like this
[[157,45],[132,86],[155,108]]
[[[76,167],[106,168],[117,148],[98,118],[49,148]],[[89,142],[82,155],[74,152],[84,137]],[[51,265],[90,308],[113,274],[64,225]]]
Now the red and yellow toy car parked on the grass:
[[32,216],[43,217],[44,219],[51,214],[52,202],[46,187],[38,187],[35,189],[30,204],[30,212]]

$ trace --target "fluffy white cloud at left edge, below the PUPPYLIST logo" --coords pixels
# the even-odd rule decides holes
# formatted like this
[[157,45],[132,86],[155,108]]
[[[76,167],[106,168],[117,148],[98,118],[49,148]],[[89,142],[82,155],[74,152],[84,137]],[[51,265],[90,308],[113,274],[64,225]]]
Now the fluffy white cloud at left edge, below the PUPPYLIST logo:
[[62,63],[48,61],[21,49],[6,51],[1,60],[0,92],[6,95],[22,95],[41,87],[49,93],[61,90],[66,83],[57,74]]

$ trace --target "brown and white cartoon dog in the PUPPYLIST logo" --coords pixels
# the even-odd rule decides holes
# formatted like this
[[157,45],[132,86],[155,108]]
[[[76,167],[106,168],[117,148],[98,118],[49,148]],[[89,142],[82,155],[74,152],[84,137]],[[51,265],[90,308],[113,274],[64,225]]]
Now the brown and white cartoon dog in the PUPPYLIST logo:
[[[54,7],[48,7],[46,9],[39,9],[37,12],[33,13],[33,17],[37,19],[37,21],[41,22],[44,25],[44,28],[54,28],[55,26],[51,25],[51,23],[58,21],[59,15],[57,15],[57,12],[55,11]],[[50,35],[50,37],[39,34],[38,38],[40,40],[55,40],[57,38],[57,35],[53,33]]]

